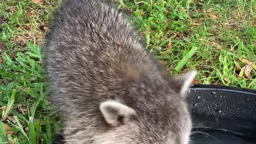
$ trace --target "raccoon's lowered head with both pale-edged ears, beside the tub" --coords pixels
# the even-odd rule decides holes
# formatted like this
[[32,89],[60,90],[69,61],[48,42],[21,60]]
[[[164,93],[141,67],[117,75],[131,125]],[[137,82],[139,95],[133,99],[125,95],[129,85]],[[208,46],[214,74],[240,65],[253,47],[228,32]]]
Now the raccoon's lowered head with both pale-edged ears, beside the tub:
[[126,98],[103,102],[100,111],[109,128],[95,144],[188,144],[192,122],[186,92],[195,76],[192,71],[167,83],[142,82]]

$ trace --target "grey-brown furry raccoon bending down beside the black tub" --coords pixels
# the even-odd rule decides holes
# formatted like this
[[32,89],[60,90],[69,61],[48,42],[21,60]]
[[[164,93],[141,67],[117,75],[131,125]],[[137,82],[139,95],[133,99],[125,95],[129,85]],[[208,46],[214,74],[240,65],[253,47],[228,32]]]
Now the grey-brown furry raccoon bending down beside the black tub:
[[186,89],[169,78],[126,15],[103,0],[66,0],[46,36],[50,100],[67,144],[188,144]]

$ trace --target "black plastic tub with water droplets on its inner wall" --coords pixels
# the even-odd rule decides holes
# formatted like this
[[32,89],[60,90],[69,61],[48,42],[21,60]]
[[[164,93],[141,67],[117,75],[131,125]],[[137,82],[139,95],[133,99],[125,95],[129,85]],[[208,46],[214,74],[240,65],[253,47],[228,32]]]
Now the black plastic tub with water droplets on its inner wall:
[[192,85],[194,144],[256,144],[256,90]]

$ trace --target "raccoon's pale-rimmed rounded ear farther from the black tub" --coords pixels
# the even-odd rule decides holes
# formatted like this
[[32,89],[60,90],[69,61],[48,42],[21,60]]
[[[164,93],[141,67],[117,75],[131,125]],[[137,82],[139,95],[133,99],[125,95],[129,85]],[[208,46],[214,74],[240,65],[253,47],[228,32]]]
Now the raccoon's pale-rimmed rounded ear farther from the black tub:
[[100,111],[102,112],[106,122],[111,126],[117,127],[118,125],[127,122],[130,116],[135,115],[136,112],[120,102],[108,100],[100,104]]

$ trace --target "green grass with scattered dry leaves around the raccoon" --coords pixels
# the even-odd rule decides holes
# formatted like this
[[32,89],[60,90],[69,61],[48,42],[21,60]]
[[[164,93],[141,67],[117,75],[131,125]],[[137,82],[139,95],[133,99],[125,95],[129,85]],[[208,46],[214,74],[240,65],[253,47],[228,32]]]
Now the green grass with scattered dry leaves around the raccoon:
[[[256,89],[256,0],[119,1],[166,72],[193,69],[194,83]],[[59,129],[47,100],[40,29],[58,4],[0,3],[0,144],[50,144]]]

